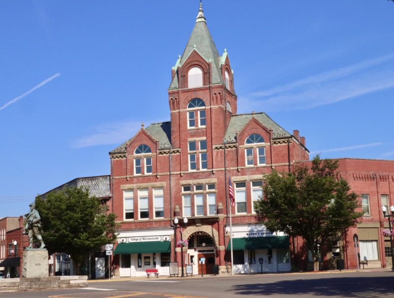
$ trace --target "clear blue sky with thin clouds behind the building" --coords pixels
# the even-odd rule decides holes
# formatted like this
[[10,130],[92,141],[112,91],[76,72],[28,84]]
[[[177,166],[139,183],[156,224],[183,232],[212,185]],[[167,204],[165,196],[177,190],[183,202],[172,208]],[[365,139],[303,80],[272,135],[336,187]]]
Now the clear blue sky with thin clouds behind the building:
[[[0,217],[169,120],[171,66],[198,0],[0,2]],[[266,112],[311,156],[394,159],[394,2],[204,0],[238,113]]]

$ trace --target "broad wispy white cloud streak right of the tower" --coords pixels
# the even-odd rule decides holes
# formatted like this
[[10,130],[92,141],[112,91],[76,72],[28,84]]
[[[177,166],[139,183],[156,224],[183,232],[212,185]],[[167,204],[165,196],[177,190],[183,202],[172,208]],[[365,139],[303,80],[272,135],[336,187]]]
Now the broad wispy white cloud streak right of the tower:
[[394,55],[384,56],[252,93],[241,98],[243,110],[311,109],[390,89],[394,87],[393,60]]

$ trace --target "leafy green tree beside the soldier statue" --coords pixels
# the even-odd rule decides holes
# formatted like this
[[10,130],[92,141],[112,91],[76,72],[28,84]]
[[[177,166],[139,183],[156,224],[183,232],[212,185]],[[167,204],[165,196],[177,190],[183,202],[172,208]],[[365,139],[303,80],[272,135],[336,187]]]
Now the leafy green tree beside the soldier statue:
[[49,253],[67,253],[74,269],[81,274],[81,264],[89,252],[116,239],[116,215],[107,214],[107,206],[89,196],[86,188],[66,188],[35,199],[40,213],[42,238]]

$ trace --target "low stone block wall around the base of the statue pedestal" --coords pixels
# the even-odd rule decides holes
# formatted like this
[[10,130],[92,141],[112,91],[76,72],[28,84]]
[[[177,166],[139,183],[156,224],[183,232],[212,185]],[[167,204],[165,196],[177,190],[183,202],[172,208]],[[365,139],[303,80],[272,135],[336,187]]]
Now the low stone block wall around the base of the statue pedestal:
[[0,292],[85,288],[87,286],[88,276],[86,275],[0,279]]

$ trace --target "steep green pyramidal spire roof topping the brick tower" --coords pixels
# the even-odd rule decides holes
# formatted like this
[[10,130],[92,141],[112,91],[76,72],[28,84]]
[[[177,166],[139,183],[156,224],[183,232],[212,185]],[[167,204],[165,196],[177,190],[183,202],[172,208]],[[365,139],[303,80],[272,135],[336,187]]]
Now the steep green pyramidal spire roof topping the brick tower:
[[[192,35],[190,35],[189,41],[186,45],[185,51],[182,54],[180,62],[177,61],[176,67],[174,66],[175,71],[177,70],[178,65],[182,66],[183,63],[188,59],[190,54],[196,50],[198,54],[200,54],[207,62],[212,62],[212,84],[218,84],[223,82],[223,78],[220,71],[220,63],[221,57],[219,56],[219,52],[216,48],[215,42],[212,39],[211,33],[208,30],[208,27],[205,22],[205,17],[202,14],[202,8],[200,6],[200,10],[197,16],[196,25],[192,31]],[[178,73],[174,76],[169,89],[178,89]]]

